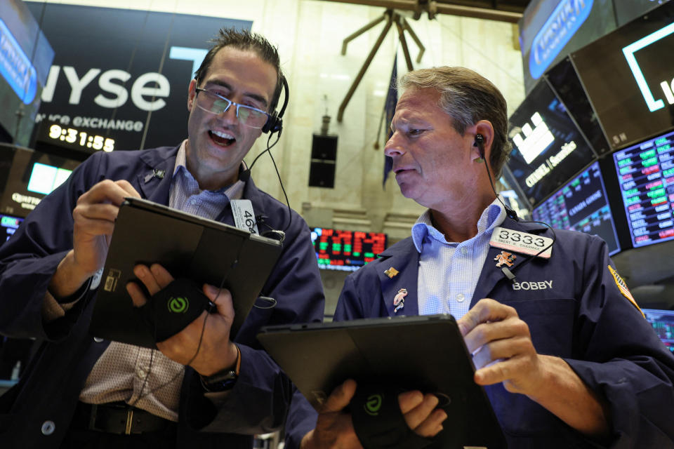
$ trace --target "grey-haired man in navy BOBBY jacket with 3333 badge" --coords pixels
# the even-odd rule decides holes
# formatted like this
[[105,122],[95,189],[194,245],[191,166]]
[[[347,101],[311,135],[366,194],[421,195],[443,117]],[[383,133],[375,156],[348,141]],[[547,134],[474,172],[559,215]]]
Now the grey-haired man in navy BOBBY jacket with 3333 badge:
[[[402,87],[385,153],[428,210],[346,279],[335,319],[453,314],[509,448],[674,447],[674,357],[606,243],[519,222],[496,199],[485,165],[498,177],[509,153],[498,89],[462,67],[410,72]],[[353,391],[333,392],[315,438],[348,440],[331,423]]]

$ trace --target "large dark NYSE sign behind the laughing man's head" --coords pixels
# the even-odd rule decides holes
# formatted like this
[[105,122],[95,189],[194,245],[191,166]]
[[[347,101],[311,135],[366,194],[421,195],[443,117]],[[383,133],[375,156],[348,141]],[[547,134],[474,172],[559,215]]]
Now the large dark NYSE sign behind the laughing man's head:
[[251,27],[199,15],[27,5],[44,17],[42,29],[55,50],[36,140],[63,147],[72,145],[49,137],[54,123],[113,139],[115,150],[178,145],[187,136],[187,86],[209,41],[221,27]]

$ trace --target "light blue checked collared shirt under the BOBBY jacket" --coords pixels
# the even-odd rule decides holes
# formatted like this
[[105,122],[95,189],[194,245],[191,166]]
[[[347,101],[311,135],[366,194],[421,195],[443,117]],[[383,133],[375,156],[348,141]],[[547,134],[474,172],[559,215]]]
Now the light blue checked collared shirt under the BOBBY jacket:
[[495,199],[477,222],[477,235],[461,243],[448,242],[433,227],[426,210],[412,227],[419,255],[418,307],[420,315],[451,314],[459,319],[470,307],[477,279],[489,252],[491,232],[505,220]]

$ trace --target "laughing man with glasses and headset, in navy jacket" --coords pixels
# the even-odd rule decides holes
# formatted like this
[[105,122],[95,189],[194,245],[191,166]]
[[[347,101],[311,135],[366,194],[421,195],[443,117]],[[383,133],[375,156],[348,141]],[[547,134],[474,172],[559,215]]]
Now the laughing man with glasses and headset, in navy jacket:
[[[2,246],[0,331],[39,340],[18,385],[0,397],[3,448],[251,448],[253,434],[285,422],[289,445],[312,427],[308,403],[256,340],[261,326],[322,320],[310,232],[240,176],[253,142],[280,126],[272,112],[281,90],[276,49],[256,34],[221,30],[190,83],[183,144],[91,156]],[[260,232],[286,234],[261,293],[275,307],[253,308],[232,341],[232,298],[204,285],[217,311],[207,325],[200,316],[158,342],[159,351],[90,335],[95,274],[126,196],[229,225],[232,201],[250,200]],[[150,294],[172,281],[156,264],[134,272]],[[147,299],[127,288],[137,305]]]

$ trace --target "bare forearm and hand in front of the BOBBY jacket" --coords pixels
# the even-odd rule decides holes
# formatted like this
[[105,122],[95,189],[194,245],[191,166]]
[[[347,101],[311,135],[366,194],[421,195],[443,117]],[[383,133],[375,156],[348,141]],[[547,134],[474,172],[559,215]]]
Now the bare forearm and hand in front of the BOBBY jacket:
[[457,321],[473,354],[475,382],[503,382],[511,393],[526,394],[582,434],[609,436],[609,407],[564,359],[536,353],[529,326],[513,307],[482,299]]

